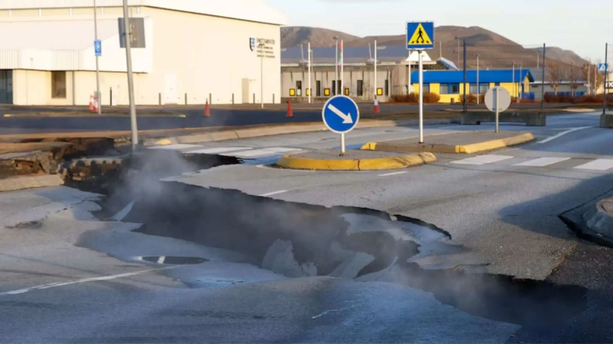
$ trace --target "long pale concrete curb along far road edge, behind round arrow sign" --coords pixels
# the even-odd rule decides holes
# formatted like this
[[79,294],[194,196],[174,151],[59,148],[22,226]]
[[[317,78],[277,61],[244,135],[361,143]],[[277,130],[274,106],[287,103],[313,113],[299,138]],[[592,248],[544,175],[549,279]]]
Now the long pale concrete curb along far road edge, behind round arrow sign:
[[[451,119],[427,119],[424,124],[436,125],[436,124],[451,124]],[[367,128],[379,128],[379,127],[397,127],[402,125],[417,125],[416,120],[408,121],[394,121],[394,120],[367,120],[361,121],[357,124],[357,129]],[[237,130],[224,130],[220,132],[210,133],[197,133],[191,135],[170,136],[167,138],[156,138],[145,140],[145,146],[165,146],[168,144],[177,143],[199,143],[199,142],[213,142],[223,140],[234,140],[237,138],[252,138],[259,136],[270,135],[282,135],[291,133],[305,133],[305,132],[323,132],[328,129],[321,123],[308,122],[305,124],[295,125],[271,125],[267,127],[254,127]]]

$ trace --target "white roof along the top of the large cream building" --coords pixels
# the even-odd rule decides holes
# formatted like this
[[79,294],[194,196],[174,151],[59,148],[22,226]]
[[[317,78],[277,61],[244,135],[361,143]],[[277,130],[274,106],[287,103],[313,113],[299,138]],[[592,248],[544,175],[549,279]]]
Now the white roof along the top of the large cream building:
[[[97,6],[120,7],[122,0],[96,0]],[[215,15],[270,24],[287,24],[287,18],[264,0],[128,0],[129,6]],[[0,0],[0,9],[55,9],[92,7],[93,0]]]

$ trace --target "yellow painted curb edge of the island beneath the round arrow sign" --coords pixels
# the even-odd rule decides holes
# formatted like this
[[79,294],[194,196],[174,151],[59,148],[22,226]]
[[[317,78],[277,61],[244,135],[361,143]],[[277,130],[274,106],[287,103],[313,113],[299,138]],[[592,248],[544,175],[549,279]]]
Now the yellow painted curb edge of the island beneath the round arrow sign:
[[373,159],[307,159],[292,155],[295,154],[281,157],[276,165],[295,170],[367,171],[393,170],[436,162],[436,157],[430,152]]

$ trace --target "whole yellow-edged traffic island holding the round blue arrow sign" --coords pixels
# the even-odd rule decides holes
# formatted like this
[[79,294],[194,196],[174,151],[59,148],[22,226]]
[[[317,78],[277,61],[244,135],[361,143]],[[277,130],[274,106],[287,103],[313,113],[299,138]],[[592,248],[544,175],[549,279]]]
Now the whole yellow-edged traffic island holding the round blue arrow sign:
[[281,157],[276,165],[295,170],[368,171],[394,170],[436,161],[430,152],[406,154],[348,149],[345,155],[340,154],[340,149],[289,154]]

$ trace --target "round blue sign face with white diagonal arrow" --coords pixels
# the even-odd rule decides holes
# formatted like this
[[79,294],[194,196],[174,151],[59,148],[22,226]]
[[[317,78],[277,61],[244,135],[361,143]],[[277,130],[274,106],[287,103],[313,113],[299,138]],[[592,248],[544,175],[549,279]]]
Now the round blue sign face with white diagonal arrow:
[[356,127],[360,120],[360,110],[353,99],[336,95],[324,104],[321,117],[328,129],[335,133],[346,133]]

